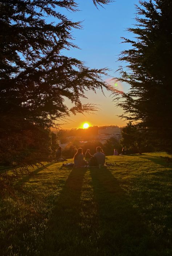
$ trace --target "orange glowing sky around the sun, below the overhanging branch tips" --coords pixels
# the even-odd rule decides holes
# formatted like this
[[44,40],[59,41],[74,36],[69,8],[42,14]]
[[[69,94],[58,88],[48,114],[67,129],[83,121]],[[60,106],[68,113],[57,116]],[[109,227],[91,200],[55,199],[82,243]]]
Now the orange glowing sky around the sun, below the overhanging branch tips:
[[[118,83],[118,89],[127,91],[128,86]],[[120,119],[117,115],[122,113],[122,109],[115,107],[115,102],[112,101],[111,93],[104,90],[105,96],[101,90],[97,90],[97,94],[92,91],[86,92],[87,99],[82,99],[82,103],[94,103],[101,109],[93,114],[77,114],[70,116],[69,120],[64,122],[61,126],[62,129],[82,128],[83,123],[89,123],[90,126],[103,126],[103,125],[118,125],[122,127],[126,125],[127,121]],[[71,106],[69,100],[66,101],[67,106]]]

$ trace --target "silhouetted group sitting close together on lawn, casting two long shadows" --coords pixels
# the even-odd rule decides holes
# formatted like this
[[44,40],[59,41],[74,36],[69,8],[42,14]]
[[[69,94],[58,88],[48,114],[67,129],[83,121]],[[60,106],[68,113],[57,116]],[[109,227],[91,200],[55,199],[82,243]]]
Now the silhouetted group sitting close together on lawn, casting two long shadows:
[[82,148],[78,148],[77,153],[74,155],[74,166],[103,166],[105,164],[105,153],[101,147],[96,148],[96,153],[94,155],[90,154],[90,150],[85,153],[85,160],[82,152]]

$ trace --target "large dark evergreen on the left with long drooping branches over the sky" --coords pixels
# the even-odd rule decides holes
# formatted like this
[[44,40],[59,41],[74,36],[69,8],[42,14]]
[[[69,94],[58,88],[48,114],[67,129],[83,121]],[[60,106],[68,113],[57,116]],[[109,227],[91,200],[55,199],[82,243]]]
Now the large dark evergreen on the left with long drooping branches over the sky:
[[[93,2],[97,6],[110,1]],[[44,143],[47,129],[70,113],[96,110],[94,104],[82,105],[80,99],[85,90],[106,87],[101,74],[107,69],[89,69],[62,54],[63,49],[77,47],[71,31],[81,24],[67,19],[60,8],[75,12],[77,3],[0,1],[0,160],[10,152],[8,162],[16,157],[20,162],[29,150],[23,146],[29,145],[28,140],[34,141],[35,149],[39,144],[38,148],[50,155],[49,139]],[[72,108],[66,106],[65,97],[73,103]]]

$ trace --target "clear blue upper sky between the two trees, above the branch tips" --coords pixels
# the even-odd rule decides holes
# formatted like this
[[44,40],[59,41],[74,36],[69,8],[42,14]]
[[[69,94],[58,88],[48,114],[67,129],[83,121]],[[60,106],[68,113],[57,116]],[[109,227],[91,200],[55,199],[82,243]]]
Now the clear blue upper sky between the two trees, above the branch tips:
[[126,28],[135,23],[135,6],[138,0],[116,0],[105,5],[105,8],[97,9],[91,0],[78,0],[81,11],[65,11],[66,16],[74,21],[83,20],[83,30],[74,30],[75,43],[81,48],[71,49],[67,55],[85,61],[89,67],[109,67],[110,75],[121,64],[116,62],[119,53],[126,49],[120,39],[132,37]]

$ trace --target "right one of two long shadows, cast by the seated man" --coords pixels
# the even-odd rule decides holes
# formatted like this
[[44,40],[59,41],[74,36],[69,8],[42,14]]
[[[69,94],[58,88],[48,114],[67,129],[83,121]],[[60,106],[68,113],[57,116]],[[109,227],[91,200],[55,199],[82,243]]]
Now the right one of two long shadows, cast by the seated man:
[[145,256],[147,230],[141,216],[109,170],[90,170],[97,201],[99,255]]

